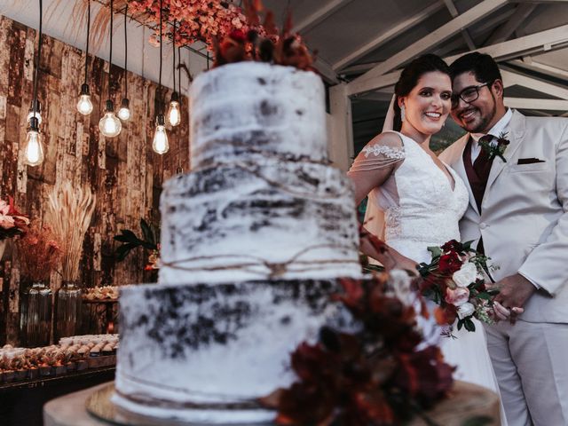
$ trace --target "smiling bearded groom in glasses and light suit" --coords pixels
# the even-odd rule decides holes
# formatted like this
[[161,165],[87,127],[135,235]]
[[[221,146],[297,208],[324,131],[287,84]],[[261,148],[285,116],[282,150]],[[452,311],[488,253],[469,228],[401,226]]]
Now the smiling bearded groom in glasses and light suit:
[[568,119],[504,106],[488,55],[450,69],[452,117],[468,134],[440,158],[469,183],[461,239],[500,268],[495,300],[511,320],[486,332],[509,426],[568,425]]

